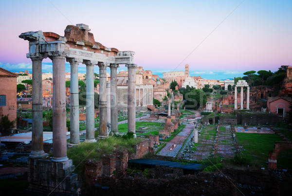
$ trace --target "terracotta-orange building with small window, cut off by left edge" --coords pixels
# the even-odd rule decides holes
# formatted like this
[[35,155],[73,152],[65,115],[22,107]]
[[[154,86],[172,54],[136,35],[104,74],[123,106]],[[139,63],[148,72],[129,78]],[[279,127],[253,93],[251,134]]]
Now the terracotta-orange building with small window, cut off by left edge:
[[16,119],[17,110],[17,75],[0,68],[0,120],[9,114],[9,120]]

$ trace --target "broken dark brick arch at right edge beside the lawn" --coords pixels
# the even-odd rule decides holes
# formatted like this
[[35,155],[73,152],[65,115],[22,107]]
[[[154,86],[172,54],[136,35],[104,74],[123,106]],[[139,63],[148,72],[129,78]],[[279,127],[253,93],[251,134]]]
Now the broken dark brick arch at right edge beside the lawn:
[[292,142],[275,142],[274,149],[269,152],[269,164],[270,169],[277,169],[277,157],[278,154],[286,149],[292,149]]

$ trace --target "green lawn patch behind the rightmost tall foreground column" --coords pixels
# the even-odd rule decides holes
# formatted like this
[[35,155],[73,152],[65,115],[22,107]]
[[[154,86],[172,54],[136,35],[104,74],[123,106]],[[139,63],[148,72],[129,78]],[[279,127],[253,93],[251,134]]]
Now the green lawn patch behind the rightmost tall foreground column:
[[[137,135],[159,135],[159,130],[163,129],[163,123],[152,123],[152,122],[136,122],[136,130],[141,130],[141,126],[147,126],[148,129],[145,133],[137,133]],[[118,125],[119,132],[127,132],[128,131],[128,123]]]

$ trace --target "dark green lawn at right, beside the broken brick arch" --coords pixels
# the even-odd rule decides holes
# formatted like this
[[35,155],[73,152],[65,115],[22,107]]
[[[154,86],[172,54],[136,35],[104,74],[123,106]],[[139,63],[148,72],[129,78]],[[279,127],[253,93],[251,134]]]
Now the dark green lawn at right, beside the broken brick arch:
[[242,153],[252,156],[252,162],[256,166],[266,166],[268,153],[274,149],[275,141],[282,141],[276,134],[261,133],[236,133],[238,145],[243,146]]

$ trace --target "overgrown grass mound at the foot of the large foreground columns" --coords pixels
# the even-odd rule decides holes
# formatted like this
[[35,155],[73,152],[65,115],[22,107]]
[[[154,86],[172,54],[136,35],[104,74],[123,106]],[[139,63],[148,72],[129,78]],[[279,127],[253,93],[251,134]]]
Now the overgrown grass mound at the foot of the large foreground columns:
[[142,139],[124,139],[110,136],[95,143],[80,143],[73,148],[69,148],[67,155],[69,159],[73,160],[75,172],[80,174],[84,170],[85,160],[99,160],[103,155],[108,155],[118,149],[127,149],[129,152],[134,152],[133,145],[141,141]]

